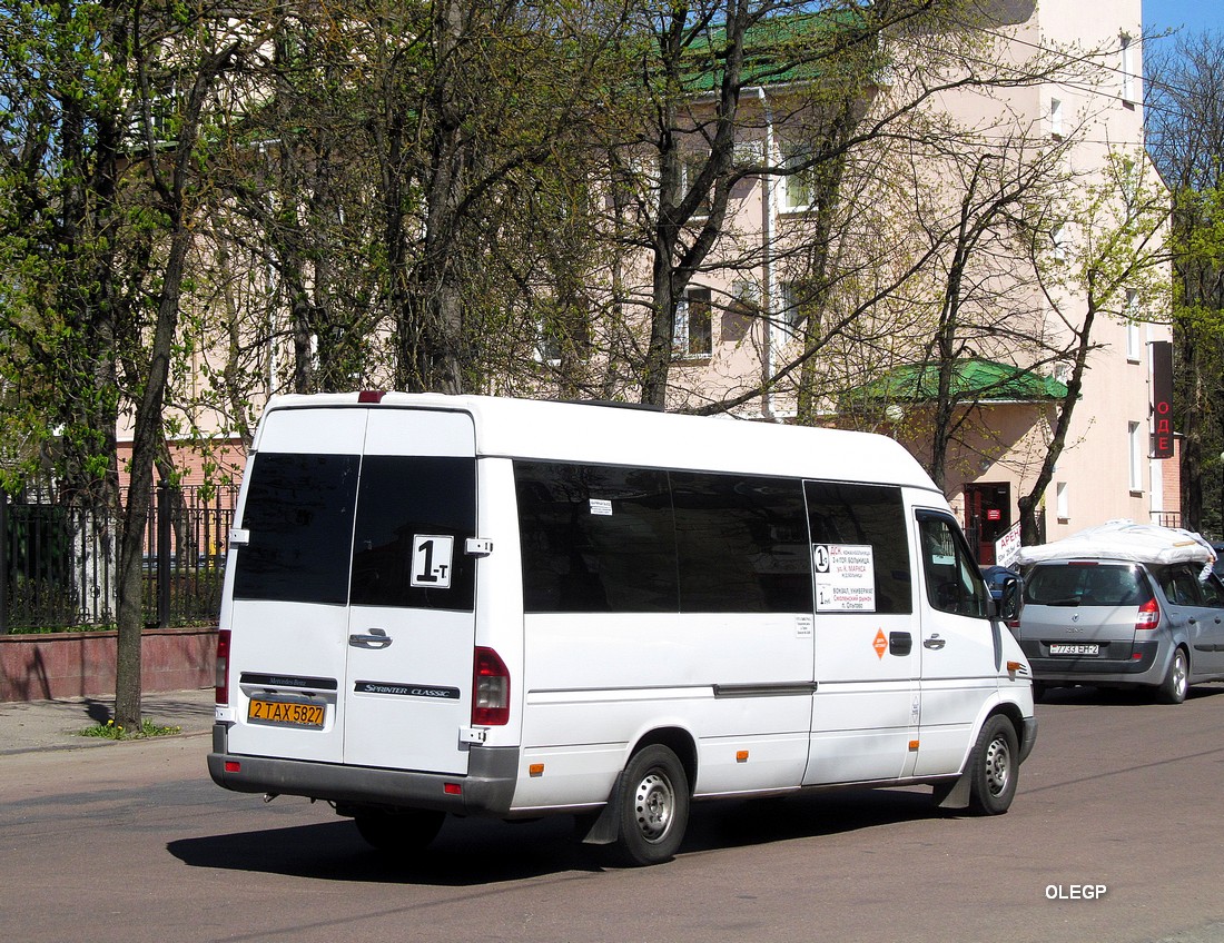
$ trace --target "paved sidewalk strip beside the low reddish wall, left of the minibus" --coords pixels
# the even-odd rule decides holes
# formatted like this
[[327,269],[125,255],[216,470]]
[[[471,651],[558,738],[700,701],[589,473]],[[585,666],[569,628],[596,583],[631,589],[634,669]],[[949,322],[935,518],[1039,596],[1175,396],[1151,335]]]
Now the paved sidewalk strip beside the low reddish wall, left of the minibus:
[[[141,698],[141,714],[158,727],[181,728],[177,736],[203,736],[213,728],[213,697],[212,687],[147,693]],[[0,702],[0,756],[121,742],[80,735],[88,727],[110,720],[114,706],[114,696]]]

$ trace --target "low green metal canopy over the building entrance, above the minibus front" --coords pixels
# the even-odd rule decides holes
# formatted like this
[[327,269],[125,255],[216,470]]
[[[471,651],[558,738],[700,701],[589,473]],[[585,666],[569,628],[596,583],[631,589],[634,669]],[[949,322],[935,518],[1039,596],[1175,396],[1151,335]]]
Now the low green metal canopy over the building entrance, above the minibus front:
[[[1043,402],[1067,395],[1066,384],[1009,363],[966,357],[955,362],[950,394],[973,402]],[[939,395],[939,364],[911,363],[846,394],[849,401],[929,402]]]

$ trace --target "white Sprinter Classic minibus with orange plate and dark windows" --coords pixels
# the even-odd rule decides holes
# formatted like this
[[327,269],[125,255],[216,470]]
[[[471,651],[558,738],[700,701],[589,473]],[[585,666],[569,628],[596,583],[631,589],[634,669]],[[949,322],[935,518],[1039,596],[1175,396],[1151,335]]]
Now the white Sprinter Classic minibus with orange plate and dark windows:
[[692,800],[934,786],[1005,812],[1029,668],[941,492],[863,433],[513,400],[275,398],[212,778],[378,849],[447,813],[670,859]]

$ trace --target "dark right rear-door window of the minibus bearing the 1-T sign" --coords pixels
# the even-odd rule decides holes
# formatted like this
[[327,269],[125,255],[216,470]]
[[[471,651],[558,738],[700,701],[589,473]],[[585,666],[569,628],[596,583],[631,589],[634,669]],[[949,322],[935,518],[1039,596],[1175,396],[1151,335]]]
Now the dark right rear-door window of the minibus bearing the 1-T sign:
[[464,543],[475,536],[475,459],[367,455],[351,604],[471,612],[476,560]]

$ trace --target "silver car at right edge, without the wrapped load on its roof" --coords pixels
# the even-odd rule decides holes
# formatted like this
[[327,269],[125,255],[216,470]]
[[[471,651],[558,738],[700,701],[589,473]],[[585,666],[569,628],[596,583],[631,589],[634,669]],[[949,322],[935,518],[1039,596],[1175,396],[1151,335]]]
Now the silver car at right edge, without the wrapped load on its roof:
[[1042,560],[1011,623],[1033,692],[1064,685],[1149,686],[1181,703],[1224,679],[1224,583],[1201,563]]

